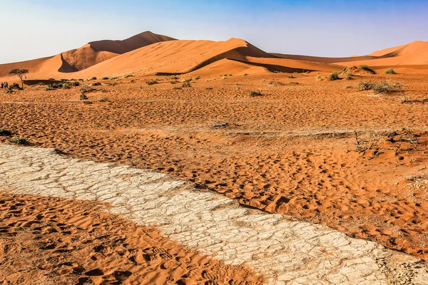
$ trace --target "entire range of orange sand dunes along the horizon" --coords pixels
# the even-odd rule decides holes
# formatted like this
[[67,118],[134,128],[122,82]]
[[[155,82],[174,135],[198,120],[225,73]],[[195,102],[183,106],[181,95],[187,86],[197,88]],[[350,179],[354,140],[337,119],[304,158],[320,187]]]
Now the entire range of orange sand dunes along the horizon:
[[179,41],[146,31],[123,41],[93,41],[50,58],[0,65],[0,77],[12,68],[27,68],[28,78],[88,78],[126,73],[253,74],[268,71],[340,71],[345,66],[367,64],[374,69],[396,68],[400,73],[428,72],[428,42],[375,51],[368,56],[325,58],[266,53],[250,43],[228,41]]

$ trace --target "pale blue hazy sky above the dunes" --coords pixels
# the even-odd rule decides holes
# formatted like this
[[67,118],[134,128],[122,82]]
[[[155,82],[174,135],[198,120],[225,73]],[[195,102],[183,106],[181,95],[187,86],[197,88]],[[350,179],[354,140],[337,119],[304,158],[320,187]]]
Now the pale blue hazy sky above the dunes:
[[352,56],[428,41],[427,0],[0,0],[0,63],[152,31],[243,38],[267,52]]

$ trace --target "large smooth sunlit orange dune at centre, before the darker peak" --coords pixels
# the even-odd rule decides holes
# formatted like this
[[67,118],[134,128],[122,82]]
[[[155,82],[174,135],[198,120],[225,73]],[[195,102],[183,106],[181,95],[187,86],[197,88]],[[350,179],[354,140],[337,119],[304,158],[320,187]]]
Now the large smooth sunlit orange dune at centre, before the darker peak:
[[[223,61],[228,59],[228,61]],[[233,63],[239,61],[241,64]],[[215,68],[205,68],[215,63]],[[219,68],[219,66],[223,66]],[[101,76],[103,74],[123,74],[138,72],[141,74],[180,74],[198,71],[213,75],[218,72],[240,73],[249,66],[269,71],[301,72],[338,71],[342,66],[327,63],[308,63],[277,58],[256,48],[250,43],[230,38],[228,41],[165,41],[111,58],[81,72],[82,77]],[[212,67],[212,66],[211,66]],[[252,67],[252,68],[253,68]],[[229,69],[230,68],[230,69]],[[256,68],[257,69],[257,68]],[[259,73],[263,69],[258,69]],[[255,70],[253,70],[255,71]]]

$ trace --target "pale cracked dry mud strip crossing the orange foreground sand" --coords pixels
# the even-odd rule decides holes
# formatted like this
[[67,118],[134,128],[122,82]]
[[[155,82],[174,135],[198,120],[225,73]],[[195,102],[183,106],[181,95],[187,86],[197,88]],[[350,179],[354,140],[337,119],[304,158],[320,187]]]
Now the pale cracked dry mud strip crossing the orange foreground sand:
[[428,266],[320,224],[240,206],[151,170],[0,145],[0,190],[111,203],[110,211],[268,284],[427,284]]

